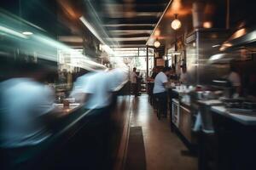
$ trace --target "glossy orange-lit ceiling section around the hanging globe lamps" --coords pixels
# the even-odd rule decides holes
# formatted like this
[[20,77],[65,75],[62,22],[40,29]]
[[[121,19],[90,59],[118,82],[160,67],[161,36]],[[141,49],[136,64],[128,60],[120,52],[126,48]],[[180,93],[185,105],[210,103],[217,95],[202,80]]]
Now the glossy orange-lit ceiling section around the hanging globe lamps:
[[[159,24],[155,26],[152,35],[148,38],[147,45],[152,46],[157,38],[166,48],[172,48],[174,43],[185,38],[192,31],[193,27],[193,3],[191,0],[172,0],[172,3],[166,8]],[[199,1],[200,2],[200,1]],[[203,8],[201,9],[201,20],[203,23],[209,22],[211,26],[205,29],[224,29],[225,26],[225,8],[226,4],[223,0],[206,0],[201,1]],[[175,19],[181,21],[182,26],[177,30],[173,30],[171,23]]]

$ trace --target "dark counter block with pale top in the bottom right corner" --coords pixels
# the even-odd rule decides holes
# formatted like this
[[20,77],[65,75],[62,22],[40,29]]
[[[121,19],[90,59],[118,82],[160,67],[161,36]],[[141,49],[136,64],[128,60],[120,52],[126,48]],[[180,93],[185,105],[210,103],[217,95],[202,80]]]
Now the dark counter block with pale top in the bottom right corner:
[[256,116],[234,114],[224,106],[212,106],[211,111],[218,142],[218,169],[254,169]]

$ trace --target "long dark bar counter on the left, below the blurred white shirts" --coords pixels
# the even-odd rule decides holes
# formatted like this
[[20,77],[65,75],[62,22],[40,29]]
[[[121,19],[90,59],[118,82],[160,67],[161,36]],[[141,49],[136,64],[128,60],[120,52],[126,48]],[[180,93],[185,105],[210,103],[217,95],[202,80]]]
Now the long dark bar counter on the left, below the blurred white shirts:
[[[119,90],[120,87],[115,93]],[[50,136],[25,149],[18,159],[9,159],[13,150],[1,149],[1,164],[6,160],[7,166],[15,165],[15,160],[26,158],[29,163],[26,169],[111,169],[126,116],[113,111],[116,98],[113,95],[108,107],[94,110],[79,104],[66,107],[55,104],[59,111],[51,113],[47,128]],[[119,103],[124,99],[120,97]]]

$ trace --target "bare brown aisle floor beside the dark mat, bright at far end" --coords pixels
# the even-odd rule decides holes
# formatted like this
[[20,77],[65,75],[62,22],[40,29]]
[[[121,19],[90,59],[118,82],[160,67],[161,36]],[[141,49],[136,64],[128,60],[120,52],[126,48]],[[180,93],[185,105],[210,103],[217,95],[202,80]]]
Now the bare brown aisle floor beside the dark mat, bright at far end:
[[195,157],[182,156],[186,147],[171,132],[168,118],[157,119],[148,95],[131,97],[130,127],[143,128],[147,170],[196,170]]

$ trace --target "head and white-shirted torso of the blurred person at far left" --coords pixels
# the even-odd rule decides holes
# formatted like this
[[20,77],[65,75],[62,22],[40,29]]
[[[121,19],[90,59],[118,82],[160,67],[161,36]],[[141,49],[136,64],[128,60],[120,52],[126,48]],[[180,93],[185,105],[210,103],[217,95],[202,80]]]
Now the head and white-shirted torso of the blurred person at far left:
[[31,67],[26,68],[30,72],[0,83],[1,117],[6,123],[1,129],[0,145],[7,148],[35,145],[47,139],[50,133],[42,116],[55,109],[54,92],[38,81],[45,71],[36,64],[22,67]]

